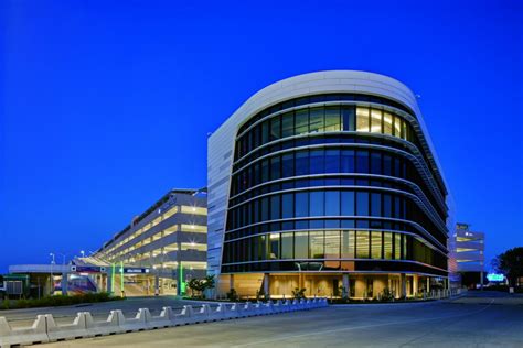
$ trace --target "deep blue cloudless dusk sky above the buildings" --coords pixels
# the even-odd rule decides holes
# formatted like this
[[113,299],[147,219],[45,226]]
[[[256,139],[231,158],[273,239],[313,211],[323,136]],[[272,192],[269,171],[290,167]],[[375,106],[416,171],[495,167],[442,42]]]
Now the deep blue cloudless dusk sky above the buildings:
[[209,132],[325,69],[420,95],[488,267],[523,246],[522,1],[191,2],[0,3],[0,273],[95,251],[170,188],[205,186]]

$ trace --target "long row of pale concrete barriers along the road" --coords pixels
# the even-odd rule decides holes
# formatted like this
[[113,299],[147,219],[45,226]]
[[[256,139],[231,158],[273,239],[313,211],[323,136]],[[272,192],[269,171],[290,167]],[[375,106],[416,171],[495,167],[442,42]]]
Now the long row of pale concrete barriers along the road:
[[196,309],[186,305],[178,314],[171,307],[163,307],[158,316],[152,316],[148,308],[140,308],[132,318],[126,318],[120,309],[115,309],[110,311],[107,319],[103,322],[95,322],[89,312],[79,312],[72,324],[64,325],[57,325],[52,314],[45,314],[38,315],[31,327],[23,328],[11,328],[6,317],[0,317],[0,347],[45,344],[327,306],[327,298],[287,300],[276,303],[271,301],[267,303],[220,303],[216,309],[212,309],[209,304],[203,304]]

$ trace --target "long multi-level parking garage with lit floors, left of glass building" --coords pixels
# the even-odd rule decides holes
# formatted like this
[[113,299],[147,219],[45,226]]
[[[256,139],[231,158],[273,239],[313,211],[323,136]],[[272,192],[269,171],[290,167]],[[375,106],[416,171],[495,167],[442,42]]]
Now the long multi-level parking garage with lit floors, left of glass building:
[[137,274],[115,280],[126,295],[180,295],[185,281],[206,274],[206,189],[172,189],[90,259],[110,268],[122,264],[126,272],[137,268]]

